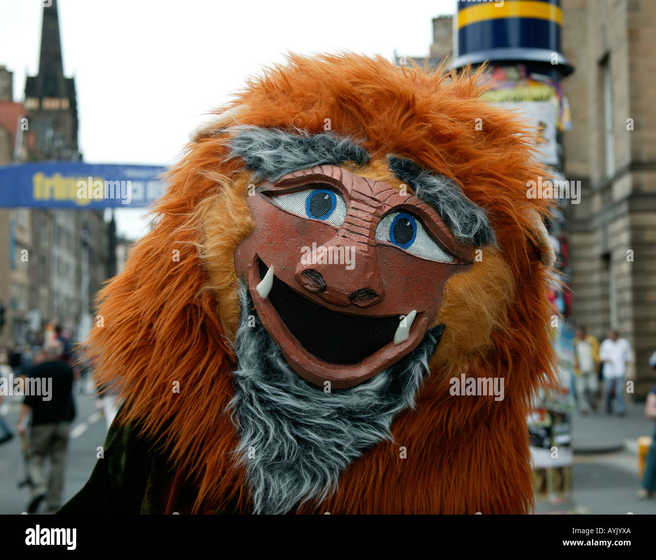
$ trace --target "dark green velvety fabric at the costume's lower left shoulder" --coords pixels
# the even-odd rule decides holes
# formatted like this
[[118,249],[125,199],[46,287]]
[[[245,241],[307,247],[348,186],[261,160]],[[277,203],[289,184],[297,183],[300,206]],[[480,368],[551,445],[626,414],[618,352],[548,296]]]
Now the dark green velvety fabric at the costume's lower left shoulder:
[[60,515],[164,513],[173,473],[163,453],[140,437],[135,425],[112,424],[87,484],[62,506]]

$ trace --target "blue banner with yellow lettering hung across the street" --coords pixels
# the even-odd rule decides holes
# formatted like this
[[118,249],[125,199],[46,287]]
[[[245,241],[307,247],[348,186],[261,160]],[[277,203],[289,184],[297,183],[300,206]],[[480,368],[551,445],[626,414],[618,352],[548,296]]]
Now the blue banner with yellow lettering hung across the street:
[[156,165],[0,165],[0,207],[144,207],[163,194],[166,185],[157,177],[164,171]]

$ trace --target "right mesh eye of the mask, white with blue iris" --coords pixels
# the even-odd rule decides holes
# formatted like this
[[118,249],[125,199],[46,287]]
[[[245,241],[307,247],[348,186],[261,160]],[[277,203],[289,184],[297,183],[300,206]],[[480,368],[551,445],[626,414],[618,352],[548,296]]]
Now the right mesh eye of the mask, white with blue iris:
[[386,241],[422,259],[455,263],[457,259],[434,242],[419,219],[405,212],[390,212],[380,220],[376,239]]

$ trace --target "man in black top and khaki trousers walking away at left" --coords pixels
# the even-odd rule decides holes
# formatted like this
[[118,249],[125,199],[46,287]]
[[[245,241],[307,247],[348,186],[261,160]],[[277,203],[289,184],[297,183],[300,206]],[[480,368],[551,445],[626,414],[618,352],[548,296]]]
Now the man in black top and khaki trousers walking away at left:
[[[61,505],[68,431],[75,418],[73,370],[63,360],[64,345],[56,339],[49,339],[43,344],[41,354],[43,361],[31,368],[30,378],[41,380],[42,394],[28,394],[26,383],[26,396],[17,428],[18,433],[25,431],[25,419],[31,412],[28,469],[32,486],[28,513],[35,513],[44,498],[49,513],[54,513]],[[38,386],[35,382],[31,383],[31,387]],[[50,459],[47,483],[46,458]]]

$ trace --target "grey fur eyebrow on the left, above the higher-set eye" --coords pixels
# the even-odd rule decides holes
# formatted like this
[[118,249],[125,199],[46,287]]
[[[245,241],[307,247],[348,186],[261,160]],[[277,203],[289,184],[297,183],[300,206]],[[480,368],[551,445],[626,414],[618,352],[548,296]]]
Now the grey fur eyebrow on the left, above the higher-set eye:
[[333,133],[310,134],[296,130],[238,125],[228,129],[230,157],[241,158],[247,169],[255,172],[255,180],[277,181],[288,173],[314,165],[342,165],[355,162],[367,165],[367,151],[348,138]]

